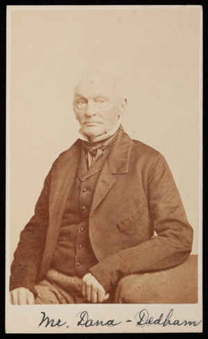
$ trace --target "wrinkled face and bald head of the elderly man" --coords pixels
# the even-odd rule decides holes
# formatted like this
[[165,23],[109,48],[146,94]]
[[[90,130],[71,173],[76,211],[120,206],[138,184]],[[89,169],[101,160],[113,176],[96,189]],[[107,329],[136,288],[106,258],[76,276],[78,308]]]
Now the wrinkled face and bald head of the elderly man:
[[90,141],[109,132],[119,116],[123,115],[124,109],[125,100],[122,100],[113,79],[87,78],[76,85],[73,110],[81,129]]

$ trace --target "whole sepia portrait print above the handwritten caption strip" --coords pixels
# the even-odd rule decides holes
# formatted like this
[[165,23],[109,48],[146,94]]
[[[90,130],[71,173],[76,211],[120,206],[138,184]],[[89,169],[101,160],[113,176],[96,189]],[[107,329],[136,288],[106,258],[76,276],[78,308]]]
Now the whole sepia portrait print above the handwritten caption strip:
[[198,303],[200,7],[54,7],[10,6],[10,305]]

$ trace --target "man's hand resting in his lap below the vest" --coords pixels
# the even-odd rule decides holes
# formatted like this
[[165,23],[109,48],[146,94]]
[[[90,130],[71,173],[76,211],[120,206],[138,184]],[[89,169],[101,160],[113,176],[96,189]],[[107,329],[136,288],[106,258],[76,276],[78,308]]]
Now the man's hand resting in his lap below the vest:
[[83,297],[91,303],[102,303],[109,298],[110,294],[105,293],[103,286],[98,283],[97,279],[87,273],[83,276]]

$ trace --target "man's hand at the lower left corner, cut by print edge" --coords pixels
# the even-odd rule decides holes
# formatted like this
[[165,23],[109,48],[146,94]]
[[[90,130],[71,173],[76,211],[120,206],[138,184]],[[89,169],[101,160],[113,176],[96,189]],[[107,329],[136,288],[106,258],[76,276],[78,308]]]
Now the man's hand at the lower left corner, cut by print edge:
[[34,305],[35,297],[33,292],[25,287],[18,287],[10,292],[12,305]]

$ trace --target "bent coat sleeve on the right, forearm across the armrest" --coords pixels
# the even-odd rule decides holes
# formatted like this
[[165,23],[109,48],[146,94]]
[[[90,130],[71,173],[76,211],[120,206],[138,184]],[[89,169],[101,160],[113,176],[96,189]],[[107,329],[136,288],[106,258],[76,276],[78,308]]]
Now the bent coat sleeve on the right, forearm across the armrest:
[[193,229],[168,164],[160,154],[148,171],[147,200],[151,225],[157,235],[110,255],[90,269],[106,292],[123,276],[174,267],[191,253]]

